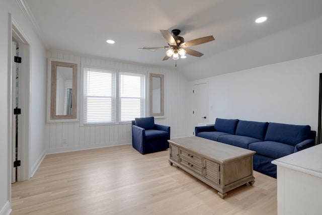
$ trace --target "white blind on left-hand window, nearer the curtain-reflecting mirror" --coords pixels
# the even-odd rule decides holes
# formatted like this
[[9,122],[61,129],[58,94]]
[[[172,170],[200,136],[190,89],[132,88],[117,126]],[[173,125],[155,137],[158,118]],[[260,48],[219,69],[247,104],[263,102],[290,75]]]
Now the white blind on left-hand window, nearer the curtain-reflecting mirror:
[[84,124],[115,123],[116,73],[84,68]]

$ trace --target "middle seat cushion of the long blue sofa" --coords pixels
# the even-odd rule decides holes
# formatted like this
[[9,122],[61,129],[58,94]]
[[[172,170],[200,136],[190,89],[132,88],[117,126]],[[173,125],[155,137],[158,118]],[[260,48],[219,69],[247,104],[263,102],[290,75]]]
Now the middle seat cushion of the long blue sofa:
[[235,147],[248,149],[248,145],[252,144],[253,142],[259,142],[262,140],[249,136],[222,135],[218,137],[218,141]]

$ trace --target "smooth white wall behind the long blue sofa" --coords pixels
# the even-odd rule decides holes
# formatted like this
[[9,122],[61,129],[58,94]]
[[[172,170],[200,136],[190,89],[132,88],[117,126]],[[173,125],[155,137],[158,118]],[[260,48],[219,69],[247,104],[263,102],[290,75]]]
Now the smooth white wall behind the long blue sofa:
[[189,87],[208,82],[209,121],[218,117],[308,124],[316,131],[319,73],[322,54],[197,80]]

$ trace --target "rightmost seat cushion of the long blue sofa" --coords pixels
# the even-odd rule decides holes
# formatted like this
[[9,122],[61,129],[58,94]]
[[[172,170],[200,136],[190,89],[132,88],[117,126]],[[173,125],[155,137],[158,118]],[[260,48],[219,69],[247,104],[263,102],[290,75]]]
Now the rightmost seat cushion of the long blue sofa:
[[248,148],[256,151],[259,155],[273,159],[278,159],[294,152],[293,146],[275,141],[254,142],[253,144],[250,144]]

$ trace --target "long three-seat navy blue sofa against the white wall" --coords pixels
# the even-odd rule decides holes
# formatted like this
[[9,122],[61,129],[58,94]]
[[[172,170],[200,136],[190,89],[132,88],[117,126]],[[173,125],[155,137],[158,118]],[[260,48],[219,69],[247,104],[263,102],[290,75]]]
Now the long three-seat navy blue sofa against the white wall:
[[271,162],[315,145],[309,125],[216,118],[214,126],[195,127],[195,135],[253,150],[254,170],[276,178]]

